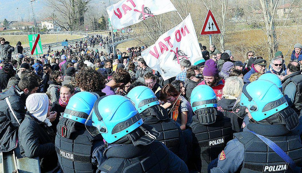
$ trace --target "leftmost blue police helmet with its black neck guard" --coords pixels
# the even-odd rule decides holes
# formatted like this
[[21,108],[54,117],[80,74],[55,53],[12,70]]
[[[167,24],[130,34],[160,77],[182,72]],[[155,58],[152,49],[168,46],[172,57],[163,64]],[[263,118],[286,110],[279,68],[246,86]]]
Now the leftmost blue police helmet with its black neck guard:
[[59,135],[69,138],[72,132],[76,132],[76,127],[84,127],[98,97],[98,94],[86,91],[73,95],[69,99],[63,115],[66,121],[59,121],[57,125]]

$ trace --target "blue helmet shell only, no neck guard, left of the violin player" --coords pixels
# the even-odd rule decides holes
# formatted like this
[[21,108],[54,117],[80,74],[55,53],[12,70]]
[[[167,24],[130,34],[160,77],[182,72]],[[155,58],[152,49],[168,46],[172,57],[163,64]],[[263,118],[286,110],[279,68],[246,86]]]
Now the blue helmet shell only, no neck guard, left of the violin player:
[[138,113],[143,112],[147,108],[159,105],[154,92],[146,86],[136,86],[127,94],[127,98],[132,100]]

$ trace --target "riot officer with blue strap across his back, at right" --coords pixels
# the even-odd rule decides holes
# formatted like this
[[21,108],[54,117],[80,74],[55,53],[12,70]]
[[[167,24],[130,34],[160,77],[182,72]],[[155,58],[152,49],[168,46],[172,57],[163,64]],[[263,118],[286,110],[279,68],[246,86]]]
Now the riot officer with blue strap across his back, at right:
[[267,80],[244,85],[233,111],[239,107],[252,120],[248,131],[234,134],[209,172],[300,172],[302,145],[292,131],[298,116],[279,88]]

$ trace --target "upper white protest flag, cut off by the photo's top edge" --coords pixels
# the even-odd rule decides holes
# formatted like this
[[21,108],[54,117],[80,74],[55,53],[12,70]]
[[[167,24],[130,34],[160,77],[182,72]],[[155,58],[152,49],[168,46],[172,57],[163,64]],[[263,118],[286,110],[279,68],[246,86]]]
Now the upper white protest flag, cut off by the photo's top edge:
[[177,11],[170,0],[122,0],[106,8],[114,29],[121,29],[155,15]]

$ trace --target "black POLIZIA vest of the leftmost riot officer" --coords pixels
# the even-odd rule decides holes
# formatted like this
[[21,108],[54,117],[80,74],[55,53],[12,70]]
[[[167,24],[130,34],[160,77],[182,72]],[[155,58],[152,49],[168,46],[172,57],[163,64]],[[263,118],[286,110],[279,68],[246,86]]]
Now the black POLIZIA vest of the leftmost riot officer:
[[55,141],[56,152],[63,172],[94,173],[96,167],[92,164],[92,146],[94,141],[102,140],[102,138],[92,137],[86,130],[84,124],[80,124],[80,126],[82,126],[80,129],[71,126],[70,128],[73,128],[72,134],[67,137],[62,137],[62,132],[63,136],[65,136],[65,129],[63,128],[62,130],[62,128],[59,129],[59,127],[62,127],[62,121],[64,120],[66,120],[66,118],[60,120],[57,126],[58,132]]

